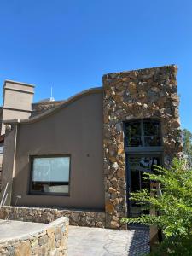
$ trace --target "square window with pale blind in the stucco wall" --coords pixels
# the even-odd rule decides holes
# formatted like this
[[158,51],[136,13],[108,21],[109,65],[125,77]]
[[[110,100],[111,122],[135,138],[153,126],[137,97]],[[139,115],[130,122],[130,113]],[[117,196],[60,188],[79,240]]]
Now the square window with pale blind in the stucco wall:
[[69,156],[32,157],[31,193],[68,194]]

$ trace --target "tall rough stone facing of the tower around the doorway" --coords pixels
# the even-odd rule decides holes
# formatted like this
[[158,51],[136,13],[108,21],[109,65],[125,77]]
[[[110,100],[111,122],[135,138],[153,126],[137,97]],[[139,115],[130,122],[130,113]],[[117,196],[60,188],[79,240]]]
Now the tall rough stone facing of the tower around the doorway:
[[172,65],[103,76],[108,228],[125,228],[119,220],[127,216],[123,123],[132,119],[160,119],[165,166],[182,152],[176,74],[177,67]]

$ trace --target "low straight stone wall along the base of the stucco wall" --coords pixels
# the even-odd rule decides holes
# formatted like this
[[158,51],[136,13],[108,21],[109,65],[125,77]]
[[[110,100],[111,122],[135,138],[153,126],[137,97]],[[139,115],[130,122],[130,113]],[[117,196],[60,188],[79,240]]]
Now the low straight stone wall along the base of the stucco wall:
[[68,217],[69,224],[87,227],[105,227],[105,212],[59,210],[38,207],[2,207],[0,218],[49,223],[60,217]]

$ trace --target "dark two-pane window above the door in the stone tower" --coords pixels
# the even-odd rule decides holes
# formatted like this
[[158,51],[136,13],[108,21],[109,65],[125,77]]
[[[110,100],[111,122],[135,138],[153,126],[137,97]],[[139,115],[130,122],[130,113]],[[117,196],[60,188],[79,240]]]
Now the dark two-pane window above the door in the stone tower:
[[125,124],[126,147],[161,146],[160,122],[143,119]]

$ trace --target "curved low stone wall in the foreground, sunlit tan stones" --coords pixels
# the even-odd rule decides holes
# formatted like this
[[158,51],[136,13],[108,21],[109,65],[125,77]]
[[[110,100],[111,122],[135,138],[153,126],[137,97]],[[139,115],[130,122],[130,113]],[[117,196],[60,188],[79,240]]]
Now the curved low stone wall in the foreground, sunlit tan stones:
[[24,236],[0,241],[0,255],[65,255],[67,256],[68,218],[59,218]]

